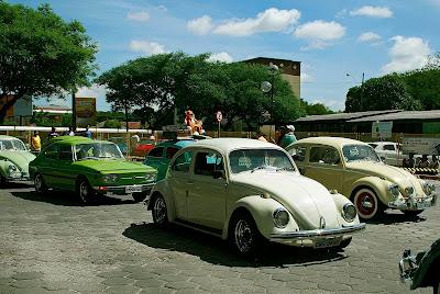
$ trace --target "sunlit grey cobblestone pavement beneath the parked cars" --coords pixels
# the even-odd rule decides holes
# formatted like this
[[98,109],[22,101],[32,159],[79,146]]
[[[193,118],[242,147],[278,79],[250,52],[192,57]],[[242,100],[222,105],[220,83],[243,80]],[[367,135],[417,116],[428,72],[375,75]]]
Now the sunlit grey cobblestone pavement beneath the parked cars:
[[431,293],[400,284],[397,262],[439,231],[438,206],[393,212],[340,253],[270,246],[244,261],[215,237],[156,228],[140,203],[82,207],[15,184],[0,190],[0,293]]

